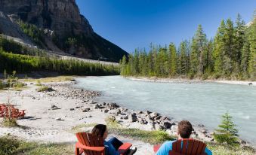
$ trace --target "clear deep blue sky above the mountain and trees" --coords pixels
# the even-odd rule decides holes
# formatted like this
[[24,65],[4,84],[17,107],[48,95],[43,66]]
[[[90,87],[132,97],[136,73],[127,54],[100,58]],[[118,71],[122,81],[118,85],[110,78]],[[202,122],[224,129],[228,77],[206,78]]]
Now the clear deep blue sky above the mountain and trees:
[[192,38],[199,24],[215,35],[221,20],[252,20],[256,0],[76,0],[94,32],[128,53],[149,44],[176,46]]

